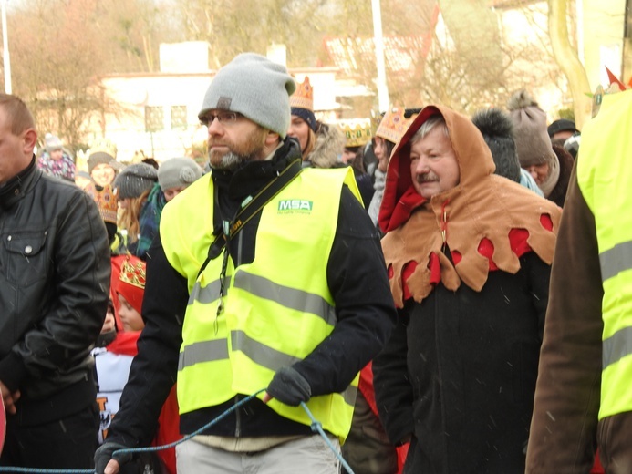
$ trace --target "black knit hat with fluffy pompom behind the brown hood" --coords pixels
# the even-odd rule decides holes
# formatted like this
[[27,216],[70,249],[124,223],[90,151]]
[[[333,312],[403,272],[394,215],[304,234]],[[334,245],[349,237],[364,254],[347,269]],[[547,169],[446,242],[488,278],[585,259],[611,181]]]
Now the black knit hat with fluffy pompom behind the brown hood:
[[487,108],[476,112],[471,121],[481,130],[482,139],[492,151],[495,173],[520,182],[520,161],[513,139],[512,119],[500,108]]

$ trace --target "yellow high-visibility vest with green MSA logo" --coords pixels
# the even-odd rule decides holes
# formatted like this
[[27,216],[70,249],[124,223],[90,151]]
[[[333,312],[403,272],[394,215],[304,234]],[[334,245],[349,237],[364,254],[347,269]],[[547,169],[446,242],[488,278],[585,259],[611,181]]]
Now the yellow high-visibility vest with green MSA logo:
[[[275,372],[309,355],[336,325],[326,265],[337,228],[343,184],[359,199],[350,168],[306,169],[261,211],[254,261],[229,257],[220,303],[223,254],[202,263],[212,243],[213,184],[197,180],[162,212],[161,241],[168,261],[188,280],[178,372],[181,413],[219,405],[268,386]],[[233,237],[239,245],[242,232]],[[357,377],[341,394],[307,403],[323,428],[341,440],[351,425]],[[263,397],[263,393],[259,395]],[[279,415],[311,424],[302,407],[276,400]]]

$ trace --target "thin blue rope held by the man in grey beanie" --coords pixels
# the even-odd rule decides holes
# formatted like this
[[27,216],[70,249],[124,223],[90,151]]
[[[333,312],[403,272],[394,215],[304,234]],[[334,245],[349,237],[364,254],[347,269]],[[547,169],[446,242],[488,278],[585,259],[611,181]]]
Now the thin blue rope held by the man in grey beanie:
[[[206,429],[211,428],[215,423],[218,423],[223,418],[225,418],[228,415],[230,415],[231,413],[233,413],[234,410],[236,410],[237,408],[241,407],[242,405],[245,405],[250,400],[252,400],[254,397],[256,397],[257,395],[259,395],[260,393],[262,393],[264,391],[265,391],[265,388],[262,388],[258,392],[255,392],[253,395],[243,398],[242,400],[237,402],[235,405],[233,405],[233,407],[230,407],[226,411],[224,411],[222,415],[220,415],[219,417],[216,417],[212,421],[208,422],[202,428],[196,429],[195,431],[193,431],[192,433],[188,434],[184,438],[178,439],[177,441],[174,441],[172,443],[169,443],[169,444],[166,444],[166,445],[162,445],[162,446],[151,446],[151,447],[148,447],[148,448],[117,449],[116,451],[114,451],[112,453],[112,457],[114,457],[115,454],[147,453],[147,452],[156,452],[156,451],[161,451],[163,449],[173,448],[173,447],[183,443],[184,441],[188,441],[189,439],[193,438],[194,436],[197,436],[197,435],[201,434]],[[345,459],[342,458],[342,456],[337,451],[337,449],[334,448],[334,445],[331,444],[331,441],[326,436],[326,433],[323,430],[322,425],[312,415],[312,412],[309,411],[309,408],[306,406],[306,404],[304,402],[301,402],[301,407],[303,407],[303,409],[306,411],[307,416],[312,420],[312,431],[320,433],[320,436],[323,437],[323,439],[325,439],[325,442],[326,442],[327,446],[337,456],[337,459],[339,459],[340,462],[342,463],[342,465],[344,466],[344,468],[347,469],[347,472],[349,474],[354,474],[353,470],[351,470],[351,468],[349,468],[349,466],[348,466],[347,462],[345,461]],[[29,474],[95,474],[96,471],[94,469],[40,469],[40,468],[13,468],[13,467],[10,467],[10,466],[0,466],[0,472],[27,472]]]

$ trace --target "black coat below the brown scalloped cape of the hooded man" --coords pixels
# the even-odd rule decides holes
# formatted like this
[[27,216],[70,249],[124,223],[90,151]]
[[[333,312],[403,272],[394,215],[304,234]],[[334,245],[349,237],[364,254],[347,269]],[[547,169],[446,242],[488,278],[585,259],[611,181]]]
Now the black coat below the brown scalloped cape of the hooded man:
[[400,311],[373,370],[389,438],[412,434],[405,472],[524,471],[549,268],[529,252],[480,293],[440,283]]

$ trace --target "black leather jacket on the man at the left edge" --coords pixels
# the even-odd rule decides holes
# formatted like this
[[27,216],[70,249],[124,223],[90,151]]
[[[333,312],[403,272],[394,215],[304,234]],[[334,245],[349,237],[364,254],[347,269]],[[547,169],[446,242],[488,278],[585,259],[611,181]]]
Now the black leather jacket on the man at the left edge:
[[24,424],[94,403],[94,345],[109,295],[109,244],[97,204],[29,167],[0,188],[0,380]]

